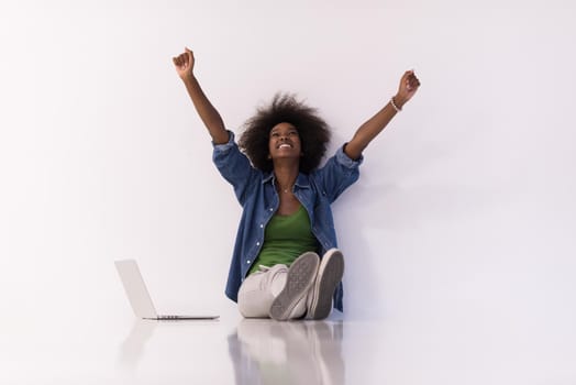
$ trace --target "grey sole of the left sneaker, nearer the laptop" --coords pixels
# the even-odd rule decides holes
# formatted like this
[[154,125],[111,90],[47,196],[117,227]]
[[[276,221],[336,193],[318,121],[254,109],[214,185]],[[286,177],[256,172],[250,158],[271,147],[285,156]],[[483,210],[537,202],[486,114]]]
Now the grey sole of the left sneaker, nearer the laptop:
[[295,306],[306,296],[320,265],[315,253],[306,253],[299,256],[288,270],[286,286],[274,299],[269,316],[277,321],[286,321]]

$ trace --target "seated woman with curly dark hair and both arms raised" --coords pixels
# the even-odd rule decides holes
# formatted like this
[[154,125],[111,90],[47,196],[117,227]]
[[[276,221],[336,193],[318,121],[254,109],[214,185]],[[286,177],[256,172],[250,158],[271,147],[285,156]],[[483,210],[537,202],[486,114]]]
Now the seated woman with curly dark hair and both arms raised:
[[314,109],[277,95],[236,144],[193,75],[193,53],[185,48],[173,61],[212,136],[213,161],[243,207],[226,296],[246,318],[324,319],[332,307],[342,311],[344,257],[330,204],[357,180],[364,148],[418,90],[414,73],[405,73],[396,96],[318,168],[330,132]]

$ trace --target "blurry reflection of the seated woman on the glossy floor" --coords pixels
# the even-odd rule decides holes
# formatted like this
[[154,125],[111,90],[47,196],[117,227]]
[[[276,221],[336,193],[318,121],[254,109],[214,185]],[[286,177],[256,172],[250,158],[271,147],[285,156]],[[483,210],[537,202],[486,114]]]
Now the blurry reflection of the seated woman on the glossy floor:
[[243,319],[229,337],[236,385],[344,384],[343,323]]

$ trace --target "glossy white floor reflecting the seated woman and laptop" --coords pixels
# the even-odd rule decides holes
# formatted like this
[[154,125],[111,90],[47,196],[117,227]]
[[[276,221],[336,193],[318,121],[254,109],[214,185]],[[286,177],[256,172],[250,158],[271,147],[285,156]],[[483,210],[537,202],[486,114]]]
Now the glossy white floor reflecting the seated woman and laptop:
[[574,326],[543,315],[455,311],[381,321],[333,315],[317,322],[128,316],[115,326],[110,320],[119,317],[46,317],[29,332],[21,328],[26,320],[14,319],[20,328],[1,334],[0,383],[576,383]]

